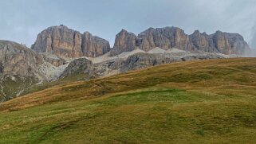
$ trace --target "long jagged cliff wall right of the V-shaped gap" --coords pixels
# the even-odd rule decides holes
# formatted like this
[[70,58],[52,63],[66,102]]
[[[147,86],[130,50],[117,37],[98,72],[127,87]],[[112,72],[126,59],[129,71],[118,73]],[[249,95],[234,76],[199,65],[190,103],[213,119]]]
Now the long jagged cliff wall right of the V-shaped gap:
[[[132,36],[131,36],[132,35]],[[132,37],[132,38],[127,38]],[[122,30],[116,35],[116,43],[112,56],[131,49],[140,48],[149,51],[159,47],[161,49],[181,49],[185,51],[203,51],[209,53],[238,54],[245,53],[249,46],[243,37],[237,33],[223,33],[217,31],[211,35],[199,33],[198,30],[191,35],[184,33],[177,27],[149,28],[137,37]]]

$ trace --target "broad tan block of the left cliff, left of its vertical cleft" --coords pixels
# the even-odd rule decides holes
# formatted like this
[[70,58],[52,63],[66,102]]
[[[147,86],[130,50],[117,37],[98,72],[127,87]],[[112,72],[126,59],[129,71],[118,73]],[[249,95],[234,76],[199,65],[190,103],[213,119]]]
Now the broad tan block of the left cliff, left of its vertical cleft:
[[80,57],[81,33],[64,25],[49,27],[37,35],[31,49],[38,53],[53,53],[62,57]]

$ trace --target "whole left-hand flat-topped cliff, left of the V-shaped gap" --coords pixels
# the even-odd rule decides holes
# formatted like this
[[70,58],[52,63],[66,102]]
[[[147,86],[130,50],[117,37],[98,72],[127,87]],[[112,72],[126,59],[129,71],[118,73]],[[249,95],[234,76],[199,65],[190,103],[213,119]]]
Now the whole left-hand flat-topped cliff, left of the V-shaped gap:
[[110,50],[108,41],[90,33],[81,34],[65,25],[53,26],[37,35],[31,49],[61,57],[100,56]]

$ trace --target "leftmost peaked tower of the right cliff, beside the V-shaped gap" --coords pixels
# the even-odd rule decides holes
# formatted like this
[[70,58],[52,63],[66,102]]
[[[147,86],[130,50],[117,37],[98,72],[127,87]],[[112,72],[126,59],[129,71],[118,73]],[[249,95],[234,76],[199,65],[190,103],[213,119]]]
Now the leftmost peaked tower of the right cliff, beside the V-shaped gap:
[[110,51],[110,56],[116,56],[123,52],[131,52],[136,49],[137,37],[134,33],[122,29],[120,33],[116,34],[115,45]]

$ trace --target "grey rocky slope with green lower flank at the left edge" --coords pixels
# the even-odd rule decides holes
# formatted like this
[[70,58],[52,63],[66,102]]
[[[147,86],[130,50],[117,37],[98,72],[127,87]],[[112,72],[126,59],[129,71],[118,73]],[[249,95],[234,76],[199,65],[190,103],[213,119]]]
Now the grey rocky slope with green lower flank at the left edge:
[[65,63],[55,55],[39,54],[15,42],[0,41],[0,102],[22,95],[35,84],[56,80]]

